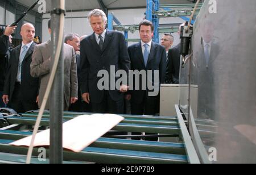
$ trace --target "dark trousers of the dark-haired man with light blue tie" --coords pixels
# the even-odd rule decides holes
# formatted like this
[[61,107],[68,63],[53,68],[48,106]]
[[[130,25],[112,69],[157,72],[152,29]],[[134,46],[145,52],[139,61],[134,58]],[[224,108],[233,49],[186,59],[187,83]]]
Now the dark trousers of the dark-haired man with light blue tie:
[[[131,97],[133,98],[133,97]],[[136,103],[135,101],[131,101],[131,114],[132,115],[153,115],[155,116],[158,110],[159,104],[158,97],[148,97],[146,92],[144,94],[144,99],[142,103]],[[133,135],[141,135],[140,132],[133,132]],[[146,135],[155,135],[146,133]],[[141,140],[140,138],[134,140]],[[158,138],[145,138],[148,141],[158,141]]]

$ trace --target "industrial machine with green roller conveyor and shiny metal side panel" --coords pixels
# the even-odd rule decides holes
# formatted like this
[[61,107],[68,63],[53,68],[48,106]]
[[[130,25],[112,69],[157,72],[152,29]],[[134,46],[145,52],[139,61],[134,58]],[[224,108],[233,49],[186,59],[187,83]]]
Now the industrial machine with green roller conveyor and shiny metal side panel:
[[[125,120],[82,152],[65,150],[64,163],[256,163],[255,7],[255,0],[205,0],[183,35],[191,44],[184,47],[176,115],[122,115]],[[65,112],[63,122],[83,114]],[[10,143],[30,136],[37,116],[2,111],[0,163],[25,163],[28,148]],[[48,127],[45,111],[39,130]],[[129,132],[154,133],[160,141],[131,140]],[[33,156],[32,163],[42,163],[38,148]]]

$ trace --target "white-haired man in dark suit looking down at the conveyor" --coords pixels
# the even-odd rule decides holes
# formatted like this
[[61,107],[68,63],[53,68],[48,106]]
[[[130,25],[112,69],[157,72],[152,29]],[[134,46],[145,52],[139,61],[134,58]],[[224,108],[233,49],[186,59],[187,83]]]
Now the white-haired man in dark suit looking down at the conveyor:
[[[123,93],[128,89],[128,80],[116,87],[118,78],[114,74],[118,70],[128,74],[130,69],[125,37],[120,32],[106,30],[107,18],[102,10],[91,11],[88,19],[94,32],[80,45],[82,98],[86,103],[92,103],[94,113],[123,114]],[[108,74],[103,77],[104,88],[98,85],[102,78],[97,74],[101,71]],[[115,88],[110,88],[113,86]]]

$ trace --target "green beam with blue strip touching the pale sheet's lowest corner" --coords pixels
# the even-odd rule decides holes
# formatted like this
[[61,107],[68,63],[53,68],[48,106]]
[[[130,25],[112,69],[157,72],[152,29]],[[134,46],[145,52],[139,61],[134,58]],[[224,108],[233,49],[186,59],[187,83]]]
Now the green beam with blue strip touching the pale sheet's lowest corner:
[[[27,155],[28,148],[15,147],[9,144],[0,144],[0,151]],[[46,149],[48,157],[48,149]],[[33,156],[38,156],[38,149],[33,149]],[[104,149],[88,147],[80,153],[71,151],[63,152],[64,160],[90,161],[102,164],[187,164],[187,156],[171,155],[163,153],[150,153],[140,151],[118,151],[116,149]]]

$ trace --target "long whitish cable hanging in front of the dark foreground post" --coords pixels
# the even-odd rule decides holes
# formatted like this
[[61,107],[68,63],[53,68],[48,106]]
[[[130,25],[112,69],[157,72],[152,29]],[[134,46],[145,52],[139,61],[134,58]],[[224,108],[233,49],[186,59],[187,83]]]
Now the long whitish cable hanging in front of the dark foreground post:
[[[60,0],[60,9],[65,9],[65,0]],[[57,65],[58,65],[59,58],[60,58],[61,46],[63,45],[63,35],[64,35],[64,14],[61,13],[59,41],[57,43],[56,55],[55,55],[55,59],[54,59],[53,67],[52,67],[51,76],[49,78],[49,82],[47,85],[46,94],[44,94],[44,98],[43,98],[43,102],[42,102],[42,105],[41,105],[41,108],[40,108],[40,111],[38,114],[38,118],[36,119],[36,124],[35,124],[34,131],[32,134],[31,144],[30,144],[30,147],[28,148],[26,164],[30,164],[30,162],[31,162],[31,156],[32,156],[33,148],[34,148],[35,136],[38,133],[39,124],[41,122],[41,119],[42,119],[42,116],[44,113],[44,109],[46,108],[46,103],[47,103],[49,93],[52,88],[53,80],[54,80],[54,77],[56,74]]]

